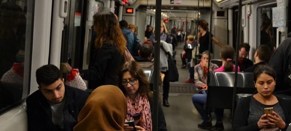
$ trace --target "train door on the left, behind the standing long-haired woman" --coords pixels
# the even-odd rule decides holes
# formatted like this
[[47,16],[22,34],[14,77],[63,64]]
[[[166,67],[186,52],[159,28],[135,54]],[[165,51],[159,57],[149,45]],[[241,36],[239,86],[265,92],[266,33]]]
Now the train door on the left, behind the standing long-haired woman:
[[103,9],[104,3],[100,0],[68,1],[68,17],[64,20],[62,36],[61,62],[68,62],[74,68],[88,69],[93,42],[91,39],[94,39],[92,35],[95,34],[92,27],[93,15]]

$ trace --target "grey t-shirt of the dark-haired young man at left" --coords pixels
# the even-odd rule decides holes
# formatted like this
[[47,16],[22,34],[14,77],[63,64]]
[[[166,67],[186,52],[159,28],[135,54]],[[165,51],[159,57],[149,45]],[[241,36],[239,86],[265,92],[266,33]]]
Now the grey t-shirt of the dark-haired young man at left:
[[58,127],[63,129],[64,127],[64,105],[65,105],[65,99],[61,103],[51,103],[49,102],[49,105],[52,109],[52,121],[53,123]]

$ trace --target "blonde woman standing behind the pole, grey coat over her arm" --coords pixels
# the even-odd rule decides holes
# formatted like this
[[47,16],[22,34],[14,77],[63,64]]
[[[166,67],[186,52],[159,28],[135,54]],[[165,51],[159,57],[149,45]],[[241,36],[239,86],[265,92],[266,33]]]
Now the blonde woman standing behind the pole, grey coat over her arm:
[[[155,29],[153,30],[153,32],[155,33]],[[166,28],[166,25],[163,21],[161,21],[161,41],[166,41],[166,43],[168,44],[171,44],[172,41],[171,41],[171,36],[168,36],[168,30]],[[150,37],[150,40],[152,42],[154,42],[155,40],[155,35],[152,35]],[[154,43],[155,44],[155,43]],[[161,45],[163,45],[163,42],[161,42]],[[167,44],[165,44],[165,46],[167,46]],[[164,47],[164,50],[160,50],[160,54],[161,53],[164,53],[164,52],[173,52],[172,49],[170,50],[166,50],[168,48]],[[171,57],[171,56],[170,56]],[[162,55],[160,55],[160,70],[163,74],[165,74],[165,78],[164,78],[164,81],[163,81],[163,105],[166,106],[166,107],[169,107],[170,104],[168,103],[168,97],[169,97],[169,90],[170,90],[170,81],[168,80],[168,69],[167,67],[162,67],[163,63],[161,63],[161,61],[167,61],[168,60],[168,57],[164,58],[162,57]]]

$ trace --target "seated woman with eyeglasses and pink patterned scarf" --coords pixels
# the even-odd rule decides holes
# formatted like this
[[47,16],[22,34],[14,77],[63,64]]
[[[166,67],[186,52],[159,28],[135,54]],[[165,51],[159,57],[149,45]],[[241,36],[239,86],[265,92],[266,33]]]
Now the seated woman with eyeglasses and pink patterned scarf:
[[[117,85],[127,101],[125,121],[139,121],[135,126],[137,130],[152,131],[152,92],[141,66],[135,61],[124,63],[118,71]],[[158,110],[158,131],[166,131],[166,120],[160,104]],[[125,131],[133,130],[128,124],[124,124],[123,128]]]

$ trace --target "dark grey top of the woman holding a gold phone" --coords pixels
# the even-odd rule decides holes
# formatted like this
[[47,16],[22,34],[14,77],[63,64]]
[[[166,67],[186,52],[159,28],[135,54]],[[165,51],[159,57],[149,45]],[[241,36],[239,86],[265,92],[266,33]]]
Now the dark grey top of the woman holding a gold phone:
[[285,121],[285,115],[279,102],[274,105],[264,105],[252,97],[250,102],[248,125],[257,123],[264,114],[264,108],[270,107],[273,107],[274,111],[283,119],[283,121]]

